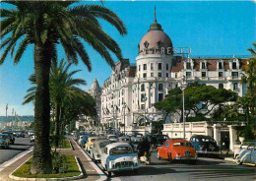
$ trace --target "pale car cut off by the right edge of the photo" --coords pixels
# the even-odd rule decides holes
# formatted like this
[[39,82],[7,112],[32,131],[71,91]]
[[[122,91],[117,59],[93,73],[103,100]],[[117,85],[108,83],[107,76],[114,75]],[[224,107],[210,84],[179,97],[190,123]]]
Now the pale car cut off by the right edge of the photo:
[[235,157],[236,164],[243,163],[256,165],[256,142],[252,142],[245,150],[241,150]]

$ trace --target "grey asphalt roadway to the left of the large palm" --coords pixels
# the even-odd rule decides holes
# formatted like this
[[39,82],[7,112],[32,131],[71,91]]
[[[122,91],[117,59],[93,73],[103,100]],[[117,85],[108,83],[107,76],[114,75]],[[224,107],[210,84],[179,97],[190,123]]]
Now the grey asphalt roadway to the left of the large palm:
[[26,138],[15,138],[14,145],[10,145],[8,150],[0,149],[0,164],[8,161],[18,153],[26,151],[31,147],[31,139],[28,136],[26,136]]

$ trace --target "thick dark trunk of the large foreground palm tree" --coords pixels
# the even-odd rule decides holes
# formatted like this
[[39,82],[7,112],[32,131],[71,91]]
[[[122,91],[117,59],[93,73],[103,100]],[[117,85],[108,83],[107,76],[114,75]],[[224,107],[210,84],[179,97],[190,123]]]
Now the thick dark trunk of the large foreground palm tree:
[[49,146],[50,130],[50,98],[49,71],[50,49],[49,43],[34,43],[34,69],[36,76],[36,91],[34,104],[34,148],[32,157],[32,174],[46,174],[52,171]]

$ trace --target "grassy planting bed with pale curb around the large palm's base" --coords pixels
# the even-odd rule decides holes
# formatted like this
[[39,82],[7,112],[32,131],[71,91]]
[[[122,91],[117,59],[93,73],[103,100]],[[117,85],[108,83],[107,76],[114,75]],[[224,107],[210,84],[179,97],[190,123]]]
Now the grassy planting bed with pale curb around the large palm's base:
[[73,180],[83,177],[83,171],[77,157],[74,155],[64,155],[59,152],[52,154],[53,171],[51,174],[32,175],[32,157],[24,164],[18,167],[13,173],[10,174],[10,178],[14,180],[30,180],[28,178],[58,178],[58,180]]

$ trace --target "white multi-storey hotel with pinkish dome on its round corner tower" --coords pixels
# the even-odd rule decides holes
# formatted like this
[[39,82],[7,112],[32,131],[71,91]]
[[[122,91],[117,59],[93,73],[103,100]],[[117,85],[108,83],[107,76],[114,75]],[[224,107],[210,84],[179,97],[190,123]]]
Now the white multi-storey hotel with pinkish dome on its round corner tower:
[[[236,91],[240,96],[246,92],[240,80],[248,57],[181,56],[156,19],[138,49],[135,65],[129,59],[118,61],[102,88],[96,87],[100,91],[97,93],[97,105],[101,107],[99,120],[108,127],[136,131],[143,129],[145,121],[150,125],[152,121],[164,120],[165,115],[153,104],[171,89],[180,87],[184,78],[187,84],[198,81]],[[172,115],[166,120],[179,122],[179,119]]]

